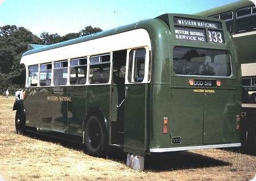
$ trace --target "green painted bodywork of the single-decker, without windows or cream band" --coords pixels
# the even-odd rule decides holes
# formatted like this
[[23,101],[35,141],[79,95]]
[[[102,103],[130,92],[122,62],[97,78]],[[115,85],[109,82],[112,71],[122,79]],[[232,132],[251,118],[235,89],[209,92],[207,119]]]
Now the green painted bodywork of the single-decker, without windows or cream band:
[[[174,16],[213,21],[207,17],[166,14],[160,18],[30,50],[23,56],[144,28],[150,35],[152,45],[151,82],[125,85],[128,90],[124,103],[123,150],[135,154],[150,154],[151,148],[239,142],[236,115],[240,115],[241,107],[241,70],[237,66],[230,34],[224,31],[225,44],[177,40],[172,23]],[[224,21],[214,21],[221,22],[223,30],[226,30]],[[175,75],[172,71],[172,49],[176,46],[229,50],[232,57],[232,77],[200,78],[222,81],[222,86],[218,88],[189,86],[188,79],[195,77]],[[214,89],[215,93],[202,94],[193,89]],[[118,112],[117,86],[113,82],[111,85],[28,88],[27,92],[28,97],[24,101],[27,125],[82,136],[86,116],[92,110],[97,110],[106,119],[108,143],[112,144],[110,125],[117,119]],[[67,96],[72,101],[48,101],[47,96]],[[35,103],[40,106],[35,106]],[[63,111],[66,113],[63,114]],[[168,134],[163,134],[164,117],[169,119]],[[46,123],[43,120],[51,121]],[[181,137],[181,144],[172,144],[171,137]]]

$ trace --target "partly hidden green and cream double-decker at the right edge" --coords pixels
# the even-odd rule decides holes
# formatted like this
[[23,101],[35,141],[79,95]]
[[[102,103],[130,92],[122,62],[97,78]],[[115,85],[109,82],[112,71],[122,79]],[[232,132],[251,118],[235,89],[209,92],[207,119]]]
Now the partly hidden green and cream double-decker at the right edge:
[[256,7],[238,1],[196,15],[223,19],[232,33],[242,68],[242,151],[256,154]]

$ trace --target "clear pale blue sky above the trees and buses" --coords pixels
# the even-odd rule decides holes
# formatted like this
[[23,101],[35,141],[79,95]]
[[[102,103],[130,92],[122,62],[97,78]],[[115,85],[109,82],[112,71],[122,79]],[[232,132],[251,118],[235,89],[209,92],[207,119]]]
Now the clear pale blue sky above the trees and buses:
[[167,12],[194,14],[238,0],[0,0],[0,26],[42,32],[79,32],[86,26],[109,30]]

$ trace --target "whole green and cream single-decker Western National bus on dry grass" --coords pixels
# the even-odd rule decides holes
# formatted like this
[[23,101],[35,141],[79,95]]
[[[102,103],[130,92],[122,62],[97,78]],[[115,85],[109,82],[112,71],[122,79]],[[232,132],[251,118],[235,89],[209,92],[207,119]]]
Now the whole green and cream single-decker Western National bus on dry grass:
[[241,146],[241,70],[223,20],[164,14],[28,50],[18,133],[151,153]]

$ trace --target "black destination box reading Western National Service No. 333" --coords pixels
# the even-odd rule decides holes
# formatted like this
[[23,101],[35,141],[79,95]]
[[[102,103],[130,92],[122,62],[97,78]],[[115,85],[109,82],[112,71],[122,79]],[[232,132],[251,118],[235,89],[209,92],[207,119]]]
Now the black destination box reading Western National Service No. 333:
[[220,22],[174,17],[174,24],[176,39],[217,44],[225,43],[223,31],[216,30],[222,28]]

